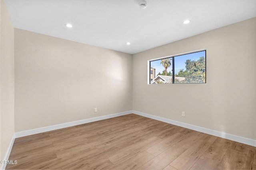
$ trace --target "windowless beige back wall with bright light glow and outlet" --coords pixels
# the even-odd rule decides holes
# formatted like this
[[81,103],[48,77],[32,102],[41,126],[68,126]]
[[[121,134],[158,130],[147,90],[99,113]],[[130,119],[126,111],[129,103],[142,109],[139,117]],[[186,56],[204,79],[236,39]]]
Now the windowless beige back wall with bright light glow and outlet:
[[16,132],[132,110],[132,55],[20,29],[14,35]]

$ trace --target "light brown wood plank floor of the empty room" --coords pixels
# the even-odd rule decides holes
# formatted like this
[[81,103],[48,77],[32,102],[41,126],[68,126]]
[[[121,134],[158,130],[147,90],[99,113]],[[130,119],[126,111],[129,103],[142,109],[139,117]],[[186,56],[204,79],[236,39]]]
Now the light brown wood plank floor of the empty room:
[[6,169],[256,169],[256,147],[130,114],[16,138]]

